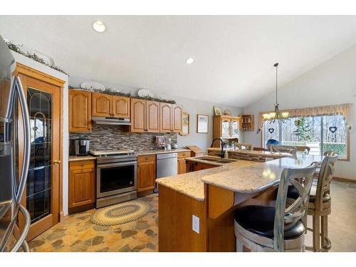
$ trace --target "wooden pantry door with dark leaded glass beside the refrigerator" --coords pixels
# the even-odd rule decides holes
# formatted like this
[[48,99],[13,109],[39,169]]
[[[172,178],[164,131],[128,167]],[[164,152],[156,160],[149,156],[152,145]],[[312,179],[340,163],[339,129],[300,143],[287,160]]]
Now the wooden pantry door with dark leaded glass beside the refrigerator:
[[24,75],[20,75],[20,78],[26,94],[31,127],[30,166],[22,199],[31,215],[28,233],[28,240],[31,240],[59,221],[61,88]]

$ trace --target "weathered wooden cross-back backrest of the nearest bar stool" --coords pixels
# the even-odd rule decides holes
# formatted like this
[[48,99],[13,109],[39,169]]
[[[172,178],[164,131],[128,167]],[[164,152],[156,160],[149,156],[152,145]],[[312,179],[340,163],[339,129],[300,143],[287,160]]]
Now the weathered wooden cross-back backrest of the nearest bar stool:
[[[295,224],[303,218],[308,209],[310,188],[317,165],[318,163],[314,162],[303,169],[283,169],[278,187],[273,229],[273,248],[276,251],[284,251],[285,224]],[[297,189],[299,197],[290,206],[286,207],[289,184],[293,184]]]

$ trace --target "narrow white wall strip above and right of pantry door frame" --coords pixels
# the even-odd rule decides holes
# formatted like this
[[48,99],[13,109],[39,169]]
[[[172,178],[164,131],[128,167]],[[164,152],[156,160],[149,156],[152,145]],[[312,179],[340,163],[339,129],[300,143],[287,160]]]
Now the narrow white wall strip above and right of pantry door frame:
[[15,61],[19,62],[25,66],[34,68],[36,70],[42,71],[43,73],[47,73],[53,77],[64,80],[66,83],[63,85],[63,162],[62,162],[62,172],[63,172],[63,215],[68,215],[68,75],[61,73],[53,68],[49,68],[41,63],[31,60],[30,58],[26,58],[26,56],[22,56],[19,53],[15,53],[11,51],[14,55]]

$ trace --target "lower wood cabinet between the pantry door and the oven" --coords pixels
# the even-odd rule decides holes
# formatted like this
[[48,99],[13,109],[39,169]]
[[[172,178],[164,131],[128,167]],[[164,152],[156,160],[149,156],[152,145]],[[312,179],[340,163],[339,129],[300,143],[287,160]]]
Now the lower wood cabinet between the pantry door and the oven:
[[95,204],[95,160],[69,162],[69,213]]

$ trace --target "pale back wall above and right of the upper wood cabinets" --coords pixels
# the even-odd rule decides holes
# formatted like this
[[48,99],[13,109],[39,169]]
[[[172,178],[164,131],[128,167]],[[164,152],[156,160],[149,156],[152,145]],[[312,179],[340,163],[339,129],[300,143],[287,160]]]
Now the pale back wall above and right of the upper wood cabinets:
[[[85,78],[69,77],[69,84],[75,88],[80,87],[80,83],[83,83]],[[107,88],[115,88],[121,90],[122,92],[136,93],[137,88],[128,88],[121,85],[115,85],[105,82],[99,82]],[[155,90],[152,90],[155,93]],[[209,93],[209,92],[206,92]],[[168,94],[158,94],[155,93],[155,97],[176,100],[179,105],[183,105],[183,112],[188,112],[190,115],[190,130],[188,136],[178,135],[178,145],[179,147],[186,147],[187,145],[197,145],[204,151],[207,147],[210,147],[211,141],[213,139],[213,115],[214,115],[214,105],[219,106],[222,110],[231,110],[232,115],[239,115],[242,113],[242,108],[231,107],[227,105],[221,105],[219,103],[208,103],[200,100],[192,100],[189,98],[181,98],[174,95]],[[197,114],[209,115],[209,133],[202,134],[197,133]],[[243,141],[243,132],[240,132],[240,140]]]

